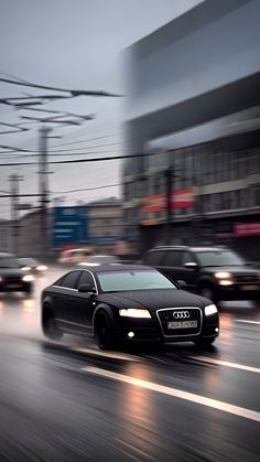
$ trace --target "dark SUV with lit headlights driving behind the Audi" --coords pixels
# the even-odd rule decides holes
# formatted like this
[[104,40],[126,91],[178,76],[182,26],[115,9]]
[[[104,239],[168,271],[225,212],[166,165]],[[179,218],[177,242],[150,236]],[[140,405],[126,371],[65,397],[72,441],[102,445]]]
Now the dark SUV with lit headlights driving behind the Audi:
[[214,302],[253,300],[260,305],[260,271],[227,248],[155,247],[143,261]]

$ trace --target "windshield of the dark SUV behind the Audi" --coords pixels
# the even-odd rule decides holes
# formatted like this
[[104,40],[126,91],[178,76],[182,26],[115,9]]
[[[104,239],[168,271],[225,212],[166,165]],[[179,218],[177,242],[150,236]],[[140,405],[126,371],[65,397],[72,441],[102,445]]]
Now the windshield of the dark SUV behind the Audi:
[[198,258],[199,265],[202,265],[203,267],[225,267],[245,265],[242,258],[234,254],[234,251],[198,251],[196,256]]

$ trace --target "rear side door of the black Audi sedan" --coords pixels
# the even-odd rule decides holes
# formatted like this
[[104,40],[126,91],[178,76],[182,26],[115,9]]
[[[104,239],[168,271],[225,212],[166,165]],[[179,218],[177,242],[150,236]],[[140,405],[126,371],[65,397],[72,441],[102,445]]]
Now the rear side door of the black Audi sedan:
[[59,322],[67,323],[75,322],[72,303],[75,301],[77,293],[77,281],[80,276],[80,270],[69,271],[58,282],[58,293],[55,297],[56,318]]

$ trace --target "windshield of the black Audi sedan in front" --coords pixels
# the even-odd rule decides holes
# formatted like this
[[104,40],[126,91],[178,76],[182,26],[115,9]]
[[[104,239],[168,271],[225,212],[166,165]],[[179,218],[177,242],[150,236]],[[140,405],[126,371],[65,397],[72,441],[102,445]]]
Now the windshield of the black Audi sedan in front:
[[176,289],[169,279],[155,270],[104,271],[98,272],[97,277],[104,292]]

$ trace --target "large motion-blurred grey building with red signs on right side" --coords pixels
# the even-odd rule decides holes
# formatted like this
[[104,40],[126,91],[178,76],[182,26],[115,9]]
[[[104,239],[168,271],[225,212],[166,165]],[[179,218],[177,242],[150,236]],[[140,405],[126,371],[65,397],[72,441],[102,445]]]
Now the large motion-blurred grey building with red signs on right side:
[[128,49],[123,207],[141,253],[220,243],[260,260],[259,23],[258,0],[206,0]]

